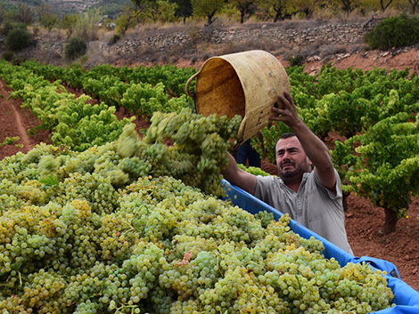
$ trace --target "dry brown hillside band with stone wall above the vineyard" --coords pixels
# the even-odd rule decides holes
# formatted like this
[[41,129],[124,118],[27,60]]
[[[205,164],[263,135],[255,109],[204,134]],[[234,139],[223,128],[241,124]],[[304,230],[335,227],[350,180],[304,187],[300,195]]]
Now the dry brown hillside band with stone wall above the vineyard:
[[[382,52],[372,51],[364,43],[364,34],[377,21],[357,18],[227,24],[217,20],[210,27],[200,23],[141,25],[128,29],[115,43],[111,41],[113,31],[100,29],[97,39],[87,43],[88,51],[81,65],[91,68],[103,63],[117,66],[172,63],[200,68],[211,56],[260,49],[274,54],[285,66],[304,63],[310,74],[316,74],[327,63],[337,68],[353,66],[363,70],[410,68],[418,73],[419,45]],[[33,44],[16,56],[68,66],[70,61],[63,58],[66,42],[63,31],[37,32]],[[0,43],[0,53],[4,51]]]

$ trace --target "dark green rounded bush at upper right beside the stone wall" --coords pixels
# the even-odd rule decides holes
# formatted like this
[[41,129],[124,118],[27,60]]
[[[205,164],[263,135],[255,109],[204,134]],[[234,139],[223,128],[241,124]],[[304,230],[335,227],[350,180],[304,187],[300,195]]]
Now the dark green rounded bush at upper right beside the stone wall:
[[386,50],[419,43],[419,18],[402,14],[382,20],[364,40],[372,49]]

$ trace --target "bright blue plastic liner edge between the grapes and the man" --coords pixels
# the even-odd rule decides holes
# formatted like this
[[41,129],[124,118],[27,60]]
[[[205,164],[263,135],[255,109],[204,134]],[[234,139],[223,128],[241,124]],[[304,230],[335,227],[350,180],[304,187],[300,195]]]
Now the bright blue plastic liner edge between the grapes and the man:
[[[234,205],[238,205],[249,213],[259,213],[267,211],[274,213],[277,220],[283,213],[276,210],[274,207],[267,205],[243,189],[240,189],[226,180],[223,180],[226,189],[227,198],[230,198]],[[396,266],[388,261],[376,259],[374,257],[362,256],[356,257],[343,251],[340,247],[333,245],[331,242],[318,236],[313,231],[300,225],[297,221],[290,221],[290,228],[295,233],[298,233],[303,238],[314,237],[323,242],[325,246],[325,257],[332,258],[340,263],[341,266],[346,265],[348,262],[369,262],[371,267],[378,270],[386,270],[389,275],[386,275],[388,285],[394,294],[393,302],[396,306],[386,309],[375,311],[377,314],[419,314],[419,292],[411,286],[408,286],[403,280],[399,278]]]

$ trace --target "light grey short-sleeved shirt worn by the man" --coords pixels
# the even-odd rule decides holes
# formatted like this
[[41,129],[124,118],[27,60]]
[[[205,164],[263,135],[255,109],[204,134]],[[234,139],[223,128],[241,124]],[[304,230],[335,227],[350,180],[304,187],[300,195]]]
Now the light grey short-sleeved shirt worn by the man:
[[345,229],[341,179],[336,172],[336,194],[320,183],[314,172],[304,173],[296,193],[274,176],[257,176],[255,197],[273,206],[342,250],[352,253]]

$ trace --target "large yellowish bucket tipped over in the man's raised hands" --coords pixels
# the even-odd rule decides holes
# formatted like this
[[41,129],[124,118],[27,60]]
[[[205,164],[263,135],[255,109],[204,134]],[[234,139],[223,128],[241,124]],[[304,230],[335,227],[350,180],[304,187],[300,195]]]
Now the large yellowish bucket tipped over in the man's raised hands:
[[[196,77],[195,91],[189,85]],[[269,52],[253,50],[209,58],[189,78],[186,93],[194,99],[196,111],[209,116],[242,116],[239,143],[269,123],[278,96],[291,92],[290,81],[279,60]]]

